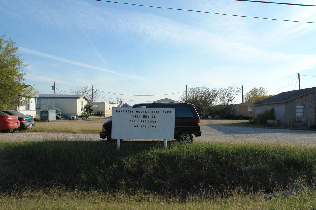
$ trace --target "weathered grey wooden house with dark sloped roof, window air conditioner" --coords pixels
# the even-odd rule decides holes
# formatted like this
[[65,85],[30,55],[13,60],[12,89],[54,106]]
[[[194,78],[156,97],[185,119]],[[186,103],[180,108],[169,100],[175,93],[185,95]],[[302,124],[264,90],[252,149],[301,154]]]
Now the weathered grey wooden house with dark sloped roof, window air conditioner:
[[274,108],[278,125],[311,127],[316,124],[316,87],[283,92],[256,103],[255,115]]

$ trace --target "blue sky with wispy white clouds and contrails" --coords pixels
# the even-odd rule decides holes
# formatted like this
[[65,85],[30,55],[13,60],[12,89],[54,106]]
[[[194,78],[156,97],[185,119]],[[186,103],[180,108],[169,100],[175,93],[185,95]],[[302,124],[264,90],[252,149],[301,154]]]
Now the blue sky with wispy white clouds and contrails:
[[[316,22],[316,7],[307,6],[233,0],[119,2]],[[316,5],[315,0],[277,2]],[[185,86],[227,88],[235,83],[244,94],[253,87],[278,94],[298,89],[297,73],[301,88],[316,86],[312,23],[93,0],[0,0],[0,14],[0,35],[6,33],[19,45],[28,64],[25,82],[42,94],[54,93],[53,81],[56,94],[93,84],[105,91],[98,101],[120,98],[128,104],[178,100]],[[235,103],[241,103],[241,94]]]

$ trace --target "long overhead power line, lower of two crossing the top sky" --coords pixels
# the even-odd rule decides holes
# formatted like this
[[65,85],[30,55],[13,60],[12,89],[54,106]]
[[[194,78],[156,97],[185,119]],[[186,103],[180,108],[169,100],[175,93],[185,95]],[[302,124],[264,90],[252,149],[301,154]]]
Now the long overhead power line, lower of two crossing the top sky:
[[222,14],[222,13],[215,13],[215,12],[205,12],[205,11],[198,11],[198,10],[189,10],[189,9],[174,9],[174,8],[167,8],[167,7],[155,7],[155,6],[148,6],[148,5],[141,5],[141,4],[131,4],[131,3],[122,3],[122,2],[111,2],[111,1],[104,1],[104,0],[93,0],[93,1],[108,2],[108,3],[117,3],[117,4],[128,4],[128,5],[134,5],[134,6],[152,7],[152,8],[160,8],[160,9],[173,9],[173,10],[181,10],[181,11],[189,11],[189,12],[201,12],[201,13],[209,13],[209,14],[221,14],[221,15],[228,15],[228,16],[235,16],[235,17],[244,17],[244,18],[257,18],[257,19],[265,19],[265,20],[280,20],[280,21],[289,21],[289,22],[298,22],[298,23],[316,23],[316,22],[305,22],[305,21],[295,21],[295,20],[282,20],[282,19],[273,19],[273,18],[260,18],[260,17],[251,17],[251,16],[234,15],[234,14]]

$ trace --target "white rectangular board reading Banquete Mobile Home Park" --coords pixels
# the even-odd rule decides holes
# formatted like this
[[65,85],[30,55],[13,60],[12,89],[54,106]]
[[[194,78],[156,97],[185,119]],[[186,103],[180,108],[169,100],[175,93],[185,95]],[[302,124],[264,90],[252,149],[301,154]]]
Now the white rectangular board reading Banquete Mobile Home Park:
[[113,107],[112,139],[174,139],[174,112],[174,109]]

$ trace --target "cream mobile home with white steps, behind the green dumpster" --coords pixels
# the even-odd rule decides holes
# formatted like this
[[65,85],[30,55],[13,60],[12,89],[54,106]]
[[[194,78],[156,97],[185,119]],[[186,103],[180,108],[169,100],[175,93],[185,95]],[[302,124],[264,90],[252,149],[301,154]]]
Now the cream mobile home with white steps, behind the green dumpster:
[[40,114],[40,110],[56,110],[59,119],[71,119],[81,116],[88,100],[81,94],[39,94],[36,113]]

